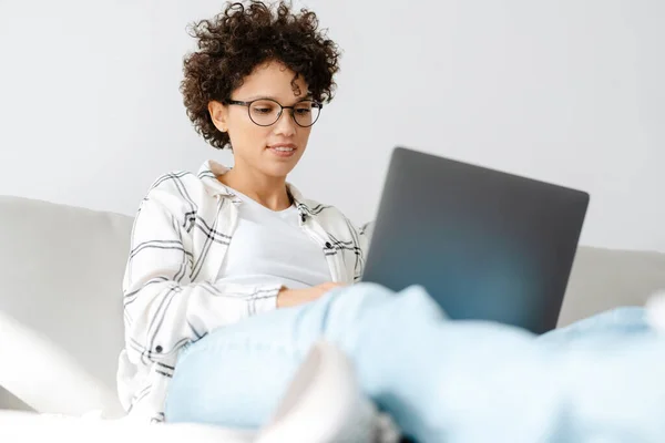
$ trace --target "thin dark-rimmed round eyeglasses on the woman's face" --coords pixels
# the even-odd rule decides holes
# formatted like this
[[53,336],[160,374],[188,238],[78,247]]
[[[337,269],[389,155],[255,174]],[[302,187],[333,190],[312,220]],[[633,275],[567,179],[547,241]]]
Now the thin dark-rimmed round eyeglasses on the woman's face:
[[314,100],[304,100],[293,106],[283,106],[272,99],[257,99],[250,102],[228,100],[226,104],[247,106],[249,119],[259,126],[274,125],[282,116],[284,110],[290,110],[291,117],[298,126],[309,127],[316,123],[324,107],[321,103]]

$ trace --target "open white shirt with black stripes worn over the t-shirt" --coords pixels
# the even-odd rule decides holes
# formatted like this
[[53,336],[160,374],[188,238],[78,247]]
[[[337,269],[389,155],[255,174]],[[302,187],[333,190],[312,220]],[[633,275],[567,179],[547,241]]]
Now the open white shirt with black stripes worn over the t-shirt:
[[[164,400],[180,350],[215,328],[276,308],[280,285],[218,282],[242,204],[217,176],[215,162],[197,174],[158,177],[141,202],[123,279],[125,347],[117,389],[130,416],[164,420]],[[360,280],[366,227],[332,206],[288,189],[300,227],[325,256],[332,281]]]

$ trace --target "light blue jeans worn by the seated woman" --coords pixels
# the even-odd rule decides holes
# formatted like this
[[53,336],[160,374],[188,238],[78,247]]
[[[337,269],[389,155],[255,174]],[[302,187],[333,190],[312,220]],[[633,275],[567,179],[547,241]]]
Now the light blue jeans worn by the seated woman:
[[665,441],[665,339],[642,308],[535,337],[448,321],[420,287],[395,293],[371,284],[190,346],[166,421],[259,427],[321,338],[350,357],[364,392],[419,442]]

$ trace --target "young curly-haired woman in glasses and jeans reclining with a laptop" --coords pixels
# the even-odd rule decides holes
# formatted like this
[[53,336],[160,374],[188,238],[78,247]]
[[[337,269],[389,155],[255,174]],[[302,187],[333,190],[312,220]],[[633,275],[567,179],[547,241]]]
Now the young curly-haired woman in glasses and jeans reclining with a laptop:
[[[352,359],[362,390],[405,433],[428,442],[473,435],[481,423],[522,423],[512,441],[535,435],[524,429],[553,430],[564,405],[596,392],[596,361],[607,362],[606,374],[665,370],[640,309],[592,319],[589,330],[621,331],[626,358],[616,362],[508,327],[447,322],[418,287],[395,295],[354,285],[366,231],[287,182],[332,97],[336,44],[314,12],[284,3],[229,4],[193,35],[198,49],[182,82],[187,115],[213,147],[233,151],[234,166],[208,161],[197,174],[165,174],[141,203],[119,369],[130,414],[259,426],[320,338]],[[640,346],[626,330],[638,332]],[[566,423],[601,423],[584,414],[569,411]]]

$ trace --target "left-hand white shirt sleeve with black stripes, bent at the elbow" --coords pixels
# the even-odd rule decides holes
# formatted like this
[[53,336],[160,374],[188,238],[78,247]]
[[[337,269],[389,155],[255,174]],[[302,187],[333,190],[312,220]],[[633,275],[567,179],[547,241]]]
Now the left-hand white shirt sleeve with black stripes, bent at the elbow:
[[191,236],[158,197],[141,203],[123,279],[130,361],[166,361],[211,330],[276,308],[280,285],[192,282]]

